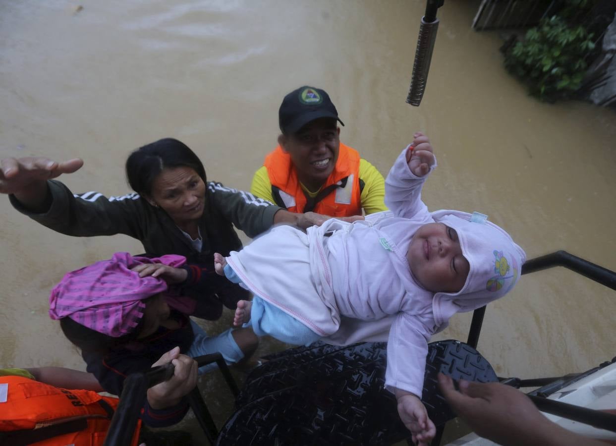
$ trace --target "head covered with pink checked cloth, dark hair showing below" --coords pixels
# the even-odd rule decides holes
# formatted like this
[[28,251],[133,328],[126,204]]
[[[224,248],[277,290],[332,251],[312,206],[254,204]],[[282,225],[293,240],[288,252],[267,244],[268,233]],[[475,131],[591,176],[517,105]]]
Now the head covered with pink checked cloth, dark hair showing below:
[[144,262],[150,261],[116,253],[110,260],[69,272],[52,290],[50,317],[60,319],[67,338],[85,351],[106,351],[154,333],[169,317],[163,294],[168,286],[160,278],[139,277],[131,270]]

